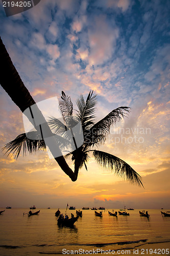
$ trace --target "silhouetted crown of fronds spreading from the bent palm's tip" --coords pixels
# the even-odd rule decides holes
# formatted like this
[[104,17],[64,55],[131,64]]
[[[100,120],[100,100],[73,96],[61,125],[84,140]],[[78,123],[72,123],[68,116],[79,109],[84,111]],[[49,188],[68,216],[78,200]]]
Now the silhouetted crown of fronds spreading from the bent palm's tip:
[[[51,127],[62,152],[67,152],[65,158],[67,159],[71,156],[71,159],[74,162],[74,174],[76,177],[82,166],[88,170],[87,162],[92,155],[100,166],[111,170],[124,180],[129,180],[138,186],[143,186],[140,175],[137,174],[128,163],[112,154],[97,149],[100,145],[104,144],[105,139],[110,132],[111,125],[124,118],[126,114],[130,112],[130,108],[121,106],[95,123],[95,105],[97,103],[97,97],[96,95],[93,95],[93,91],[90,91],[86,101],[82,95],[77,99],[76,104],[78,110],[76,110],[75,116],[73,116],[73,104],[71,98],[64,92],[61,94],[59,109],[63,117],[62,121],[64,122],[51,116],[48,120],[48,124]],[[81,130],[83,133],[83,143],[81,146],[77,146],[75,140],[77,135],[73,133],[73,127],[78,123],[81,123]],[[70,131],[70,133],[67,133],[67,131]],[[30,134],[31,133],[35,139],[29,139],[25,133],[20,134],[13,141],[5,145],[4,149],[6,150],[6,153],[8,153],[8,155],[12,153],[14,157],[17,158],[22,147],[23,155],[26,155],[27,151],[31,154],[37,150],[45,150],[46,144],[44,140],[38,139],[38,133],[36,131],[32,131]]]

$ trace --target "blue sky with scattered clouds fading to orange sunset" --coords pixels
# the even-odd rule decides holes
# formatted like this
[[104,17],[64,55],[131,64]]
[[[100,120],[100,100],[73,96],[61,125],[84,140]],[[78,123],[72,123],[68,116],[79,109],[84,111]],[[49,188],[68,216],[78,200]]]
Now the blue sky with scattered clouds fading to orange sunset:
[[[47,152],[15,160],[1,150],[0,207],[170,208],[169,9],[168,0],[41,0],[7,17],[0,3],[2,40],[36,102],[64,91],[77,109],[79,95],[93,90],[96,121],[119,106],[132,108],[99,150],[129,163],[144,185],[116,177],[93,158],[72,182]],[[2,87],[0,99],[2,149],[25,130]]]

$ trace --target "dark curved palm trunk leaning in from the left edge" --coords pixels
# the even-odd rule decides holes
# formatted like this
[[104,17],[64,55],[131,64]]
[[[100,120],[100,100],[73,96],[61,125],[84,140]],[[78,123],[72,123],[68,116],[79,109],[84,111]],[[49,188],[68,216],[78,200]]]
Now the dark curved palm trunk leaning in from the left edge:
[[[0,37],[0,72],[1,72],[1,76],[0,76],[1,86],[4,88],[4,90],[8,93],[8,95],[11,97],[11,99],[14,101],[14,103],[18,106],[18,108],[22,112],[24,112],[27,108],[29,108],[31,105],[36,103],[32,98],[32,96],[30,95],[27,88],[25,87],[18,72],[16,71],[11,61],[11,58],[3,44],[1,37]],[[38,107],[36,111],[38,115],[41,115],[41,117],[44,118],[44,116],[42,115]],[[30,121],[32,122],[32,120]],[[46,120],[44,125],[45,125],[46,131],[48,132],[49,137],[52,136],[52,132]],[[50,144],[48,146],[49,148],[51,147]],[[58,152],[60,152],[60,149],[57,145],[56,145],[56,149]],[[62,154],[60,155],[61,155],[60,157],[57,157],[57,158],[54,157],[55,160],[57,161],[57,163],[59,164],[63,172],[65,172],[71,178],[72,181],[76,181],[77,176],[73,173],[72,169],[68,166]]]

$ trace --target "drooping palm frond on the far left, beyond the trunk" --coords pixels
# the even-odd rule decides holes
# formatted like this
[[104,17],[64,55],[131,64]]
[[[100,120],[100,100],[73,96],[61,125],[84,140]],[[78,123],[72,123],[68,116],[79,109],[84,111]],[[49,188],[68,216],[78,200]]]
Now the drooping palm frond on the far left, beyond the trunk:
[[[37,132],[30,132],[29,133],[32,138],[38,138],[39,134]],[[23,147],[23,155],[26,155],[26,152],[28,151],[30,154],[37,150],[45,150],[46,144],[44,140],[31,140],[27,138],[26,133],[18,135],[14,140],[8,142],[4,147],[3,150],[7,150],[5,154],[8,153],[8,156],[10,153],[14,155],[14,158],[17,159],[20,151]]]

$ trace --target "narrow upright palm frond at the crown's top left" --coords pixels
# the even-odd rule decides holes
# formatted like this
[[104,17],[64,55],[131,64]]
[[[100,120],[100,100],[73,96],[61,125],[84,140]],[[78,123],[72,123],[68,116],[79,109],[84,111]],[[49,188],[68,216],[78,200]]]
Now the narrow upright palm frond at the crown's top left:
[[73,115],[73,103],[70,96],[68,97],[63,91],[61,94],[62,100],[59,101],[59,108],[61,110],[63,119],[66,120],[68,116]]

